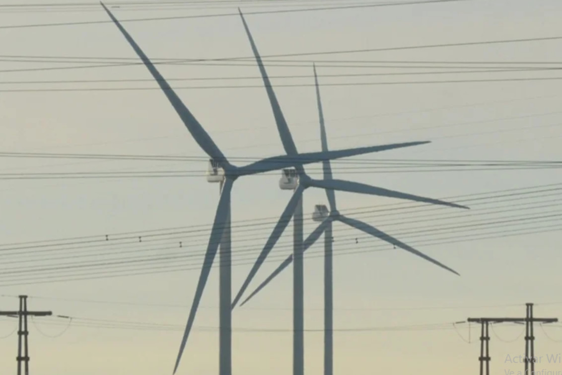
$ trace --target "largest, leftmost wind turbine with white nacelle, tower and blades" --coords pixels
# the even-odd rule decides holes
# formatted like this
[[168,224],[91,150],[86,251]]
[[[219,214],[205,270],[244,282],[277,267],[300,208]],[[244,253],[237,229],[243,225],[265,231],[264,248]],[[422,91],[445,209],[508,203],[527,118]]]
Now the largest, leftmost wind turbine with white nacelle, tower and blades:
[[[339,151],[329,151],[329,152],[309,152],[309,153],[292,153],[291,155],[281,155],[274,157],[267,157],[265,159],[253,162],[245,166],[235,166],[230,164],[223,153],[220,151],[219,147],[212,141],[211,137],[203,126],[197,121],[193,114],[187,109],[185,104],[180,100],[178,95],[166,82],[164,77],[152,64],[146,54],[140,49],[138,44],[133,40],[129,33],[121,26],[120,22],[117,21],[115,16],[110,10],[101,3],[102,7],[110,16],[111,20],[121,31],[121,34],[125,37],[130,46],[137,53],[140,60],[143,61],[144,65],[147,67],[149,73],[156,80],[162,92],[164,92],[166,98],[169,100],[170,104],[174,107],[174,110],[178,114],[179,118],[183,121],[185,127],[191,133],[192,137],[195,139],[197,144],[202,148],[203,151],[207,153],[210,157],[209,166],[210,173],[207,177],[209,182],[221,182],[221,193],[219,198],[219,204],[216,208],[215,219],[211,229],[211,235],[209,238],[209,244],[207,245],[207,250],[205,252],[205,259],[201,268],[201,274],[197,282],[196,292],[193,297],[193,304],[191,310],[189,311],[189,317],[187,324],[185,326],[185,332],[182,338],[182,343],[180,345],[178,358],[176,359],[174,373],[178,369],[180,359],[182,358],[183,350],[185,344],[187,343],[187,338],[191,332],[193,322],[197,313],[197,308],[201,301],[203,290],[205,289],[205,284],[209,278],[209,273],[211,270],[212,263],[215,259],[219,243],[221,243],[220,252],[220,264],[226,264],[228,266],[220,267],[220,289],[219,289],[219,305],[220,305],[220,374],[230,375],[231,374],[231,306],[230,306],[230,293],[231,278],[230,278],[230,193],[234,181],[242,176],[264,173],[267,171],[279,170],[289,167],[302,168],[303,164],[310,164],[313,162],[319,162],[323,160],[339,159],[342,157],[349,157],[355,155],[362,155],[370,152],[378,152],[383,150],[391,150],[392,148],[415,146],[416,144],[423,144],[428,142],[409,142],[409,143],[396,143],[396,144],[386,144],[383,146],[370,146],[370,147],[360,147],[360,148],[350,148]],[[294,207],[294,206],[293,206]],[[224,233],[228,235],[223,236]]]

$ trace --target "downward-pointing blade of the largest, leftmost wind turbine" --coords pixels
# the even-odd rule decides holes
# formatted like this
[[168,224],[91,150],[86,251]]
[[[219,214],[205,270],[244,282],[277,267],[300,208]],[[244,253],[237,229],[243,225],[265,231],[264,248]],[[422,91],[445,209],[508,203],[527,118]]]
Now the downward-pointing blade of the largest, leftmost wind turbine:
[[183,350],[185,349],[185,344],[187,343],[187,338],[193,326],[193,320],[195,319],[197,308],[199,306],[199,302],[201,301],[201,296],[203,295],[203,289],[205,289],[205,284],[207,283],[207,279],[209,278],[209,273],[211,272],[211,266],[215,259],[220,239],[223,237],[226,219],[228,218],[228,211],[230,210],[230,192],[232,191],[232,184],[233,180],[227,178],[224,182],[223,192],[220,195],[219,205],[217,206],[215,214],[215,222],[213,223],[211,229],[209,245],[207,246],[207,252],[205,253],[205,260],[203,260],[203,266],[201,268],[201,274],[199,275],[199,281],[197,283],[195,296],[193,297],[191,311],[189,311],[189,318],[187,319],[187,325],[185,326],[182,344],[180,344],[179,347],[179,353],[178,358],[176,359],[174,373],[178,369],[180,359],[182,359]]

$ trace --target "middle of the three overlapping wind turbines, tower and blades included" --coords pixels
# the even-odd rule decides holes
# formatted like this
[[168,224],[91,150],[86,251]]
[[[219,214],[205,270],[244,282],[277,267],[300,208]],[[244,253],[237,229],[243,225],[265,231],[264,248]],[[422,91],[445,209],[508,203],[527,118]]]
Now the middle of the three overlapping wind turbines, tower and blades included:
[[[285,148],[285,151],[287,152],[288,155],[297,155],[297,149],[293,142],[291,132],[289,131],[287,121],[285,121],[284,119],[283,113],[277,101],[277,97],[275,96],[273,88],[271,87],[271,82],[269,80],[268,74],[265,71],[265,67],[261,60],[260,54],[257,51],[256,44],[253,41],[252,35],[250,33],[250,29],[248,28],[246,20],[244,20],[244,16],[242,15],[240,9],[238,9],[238,11],[242,18],[244,29],[246,29],[246,34],[248,36],[248,39],[250,40],[250,44],[252,47],[253,54],[257,61],[257,65],[259,66],[260,73],[264,81],[266,91],[268,93],[271,109],[273,110],[275,122],[277,123],[277,128],[279,131],[281,141]],[[319,97],[318,97],[318,105],[319,105],[320,118],[321,121],[323,122]],[[323,150],[323,152],[328,152],[328,151]],[[275,224],[273,232],[268,238],[266,245],[262,249],[260,255],[257,257],[256,263],[252,266],[252,269],[250,270],[248,277],[244,280],[242,287],[240,288],[238,294],[234,298],[234,301],[232,302],[232,308],[234,308],[238,304],[243,293],[246,291],[253,277],[256,275],[257,271],[259,270],[261,264],[264,263],[266,257],[268,256],[271,249],[273,249],[273,246],[275,245],[275,243],[283,233],[284,229],[287,228],[289,220],[291,219],[291,217],[293,217],[293,226],[294,226],[293,256],[292,256],[292,259],[294,260],[293,263],[293,375],[302,375],[304,372],[304,335],[303,335],[303,328],[304,328],[303,278],[304,276],[303,276],[303,258],[302,258],[302,253],[304,251],[303,240],[302,240],[303,191],[308,187],[324,188],[327,189],[329,199],[332,199],[331,197],[333,196],[333,190],[339,190],[339,191],[355,192],[355,193],[362,193],[362,194],[369,194],[369,195],[401,198],[401,199],[413,200],[418,202],[426,202],[430,204],[459,207],[464,209],[468,209],[468,207],[449,203],[449,202],[444,202],[440,200],[435,200],[432,198],[415,196],[407,193],[401,193],[401,192],[392,191],[380,187],[374,187],[366,184],[350,182],[345,180],[334,180],[332,178],[315,180],[310,178],[305,173],[302,164],[296,165],[295,168],[296,168],[296,174],[298,176],[298,186],[294,188],[294,192],[293,192],[293,196],[291,197],[291,200],[289,200],[287,206],[285,207],[285,210],[283,211],[282,215],[279,218],[279,221],[277,222],[277,224]],[[290,176],[287,175],[282,176],[282,179],[287,177]],[[281,185],[283,184],[281,183]],[[318,234],[318,236],[320,236],[320,234],[321,232]],[[455,272],[454,270],[448,268],[447,266],[439,263],[436,260],[433,260],[429,257],[425,257],[425,258],[432,261],[435,264],[438,264],[439,266],[442,266],[443,268],[446,268],[447,270],[450,270],[451,272]]]

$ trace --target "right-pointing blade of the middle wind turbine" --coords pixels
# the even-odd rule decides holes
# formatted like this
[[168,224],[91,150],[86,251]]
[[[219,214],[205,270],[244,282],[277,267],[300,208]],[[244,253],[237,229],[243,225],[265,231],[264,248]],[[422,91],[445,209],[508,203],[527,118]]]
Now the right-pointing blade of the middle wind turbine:
[[323,188],[323,189],[334,189],[337,191],[347,191],[351,193],[360,193],[360,194],[369,194],[369,195],[377,195],[382,197],[391,197],[391,198],[400,198],[400,199],[407,199],[410,201],[416,202],[425,202],[434,205],[443,205],[443,206],[450,206],[450,207],[457,207],[461,209],[468,209],[466,206],[457,205],[455,203],[449,203],[445,201],[440,201],[433,198],[425,198],[420,197],[417,195],[401,193],[398,191],[393,191],[389,189],[384,189],[376,186],[370,186],[367,184],[362,184],[359,182],[351,182],[351,181],[344,181],[344,180],[310,180],[310,186]]

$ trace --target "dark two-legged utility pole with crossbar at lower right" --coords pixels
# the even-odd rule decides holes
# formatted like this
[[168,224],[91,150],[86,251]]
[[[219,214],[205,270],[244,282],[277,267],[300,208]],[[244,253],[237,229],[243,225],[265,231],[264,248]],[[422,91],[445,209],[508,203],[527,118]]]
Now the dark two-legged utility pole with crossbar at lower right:
[[[467,322],[480,323],[482,326],[480,335],[480,375],[490,375],[490,334],[488,326],[490,323],[523,323],[525,322],[525,374],[534,374],[534,336],[533,323],[555,323],[558,318],[534,318],[533,304],[526,304],[527,314],[525,318],[468,318]],[[529,372],[529,362],[531,363],[531,372]],[[484,373],[484,363],[486,363],[486,372]]]

